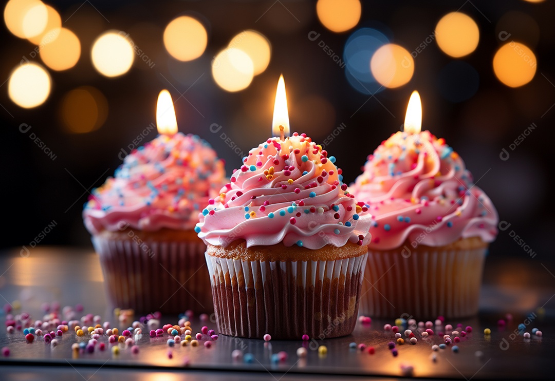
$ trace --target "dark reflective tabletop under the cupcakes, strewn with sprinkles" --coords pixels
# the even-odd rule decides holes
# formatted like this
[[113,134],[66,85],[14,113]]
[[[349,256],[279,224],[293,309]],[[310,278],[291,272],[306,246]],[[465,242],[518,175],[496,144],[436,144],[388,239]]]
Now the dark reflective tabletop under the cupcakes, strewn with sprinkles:
[[[103,277],[98,257],[92,250],[68,247],[37,247],[29,255],[20,250],[0,254],[0,302],[21,308],[15,313],[31,313],[33,321],[42,319],[44,302],[58,301],[63,306],[80,303],[86,313],[102,316],[102,321],[114,322],[120,329],[130,324],[115,324],[117,319],[108,308]],[[555,277],[548,263],[532,260],[495,260],[487,258],[485,284],[482,287],[480,314],[471,319],[447,321],[456,326],[473,327],[472,334],[458,343],[459,352],[450,346],[433,352],[431,344],[442,343],[434,336],[432,343],[420,339],[417,344],[397,346],[398,356],[393,357],[387,343],[394,341],[393,333],[383,329],[392,320],[374,319],[371,324],[357,323],[355,332],[347,337],[307,342],[307,357],[300,359],[297,348],[302,341],[270,341],[238,339],[220,336],[211,348],[204,346],[169,348],[167,335],[151,339],[146,332],[136,337],[140,348],[138,354],[122,346],[118,355],[111,350],[72,355],[75,342],[87,342],[72,331],[59,338],[58,346],[52,348],[40,338],[27,343],[22,332],[0,333],[0,347],[8,347],[9,357],[0,358],[0,379],[188,379],[229,380],[250,379],[337,379],[341,378],[398,378],[413,375],[420,378],[449,379],[520,379],[551,378],[555,338]],[[511,313],[513,319],[505,327],[497,321]],[[138,318],[136,316],[135,318]],[[418,317],[415,317],[418,320]],[[5,313],[0,313],[4,322]],[[176,316],[165,316],[162,323],[176,324]],[[519,323],[527,325],[531,332],[537,327],[543,337],[532,335],[524,339],[514,334]],[[193,321],[198,329],[199,321]],[[216,329],[214,323],[206,323]],[[4,327],[4,324],[2,324]],[[195,328],[196,327],[196,328]],[[491,329],[491,335],[483,333]],[[4,330],[4,328],[2,328]],[[402,330],[401,330],[402,331]],[[120,331],[121,332],[121,331]],[[404,337],[404,336],[403,336]],[[420,337],[420,335],[417,335]],[[100,342],[107,343],[104,335]],[[375,354],[353,350],[349,343],[364,343],[375,347]],[[121,345],[121,344],[120,344]],[[322,356],[317,345],[325,345],[328,353]],[[254,355],[254,362],[234,362],[231,352],[243,349]],[[171,350],[173,358],[168,357]],[[273,364],[271,355],[285,351],[285,362]],[[482,356],[477,356],[480,351]],[[431,359],[436,354],[436,362]],[[0,355],[1,356],[1,355]],[[184,367],[184,360],[188,365]],[[412,367],[412,371],[408,371]]]

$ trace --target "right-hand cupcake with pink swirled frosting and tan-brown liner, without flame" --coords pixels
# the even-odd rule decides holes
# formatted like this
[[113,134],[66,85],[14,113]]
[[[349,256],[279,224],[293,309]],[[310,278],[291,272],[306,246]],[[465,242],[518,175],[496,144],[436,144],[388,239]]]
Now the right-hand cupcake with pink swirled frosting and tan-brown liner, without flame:
[[445,140],[429,131],[391,135],[368,156],[349,191],[372,214],[361,313],[477,313],[498,216]]

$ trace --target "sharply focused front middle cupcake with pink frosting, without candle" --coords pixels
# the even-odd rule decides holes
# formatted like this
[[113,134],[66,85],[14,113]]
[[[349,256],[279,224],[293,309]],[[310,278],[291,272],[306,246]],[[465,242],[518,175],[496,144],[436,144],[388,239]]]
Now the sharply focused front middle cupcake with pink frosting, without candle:
[[208,246],[220,333],[352,332],[371,220],[334,162],[305,134],[268,139],[202,211],[196,231]]

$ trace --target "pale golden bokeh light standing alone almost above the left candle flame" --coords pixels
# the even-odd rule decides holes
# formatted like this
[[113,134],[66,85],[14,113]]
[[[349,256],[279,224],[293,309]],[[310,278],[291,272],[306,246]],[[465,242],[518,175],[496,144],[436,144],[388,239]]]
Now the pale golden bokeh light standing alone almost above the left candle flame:
[[206,49],[208,34],[203,24],[189,16],[173,19],[164,30],[164,46],[180,61],[199,58]]

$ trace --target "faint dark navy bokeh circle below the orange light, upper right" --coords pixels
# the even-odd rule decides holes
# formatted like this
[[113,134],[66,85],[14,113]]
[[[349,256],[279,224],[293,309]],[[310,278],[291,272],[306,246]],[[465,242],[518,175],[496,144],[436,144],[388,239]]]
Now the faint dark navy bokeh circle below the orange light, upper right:
[[458,103],[476,94],[480,87],[480,75],[472,65],[463,61],[452,61],[441,69],[438,88],[445,99]]

